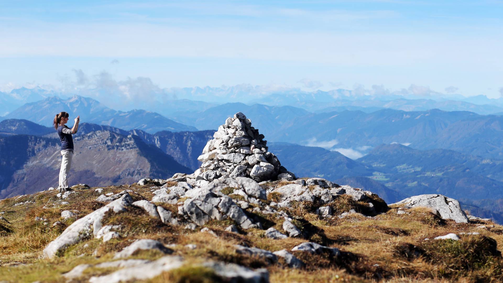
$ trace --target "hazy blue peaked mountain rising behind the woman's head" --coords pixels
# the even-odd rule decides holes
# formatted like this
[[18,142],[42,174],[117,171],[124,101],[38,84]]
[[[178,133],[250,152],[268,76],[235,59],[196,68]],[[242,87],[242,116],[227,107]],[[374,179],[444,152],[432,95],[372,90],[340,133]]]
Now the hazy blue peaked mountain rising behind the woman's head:
[[65,111],[70,114],[69,124],[80,115],[80,121],[120,127],[123,129],[142,129],[150,133],[160,130],[191,131],[195,127],[175,122],[158,113],[145,110],[116,111],[106,107],[99,101],[73,96],[69,99],[49,97],[42,101],[27,103],[14,110],[6,118],[23,117],[35,123],[52,126],[54,116]]

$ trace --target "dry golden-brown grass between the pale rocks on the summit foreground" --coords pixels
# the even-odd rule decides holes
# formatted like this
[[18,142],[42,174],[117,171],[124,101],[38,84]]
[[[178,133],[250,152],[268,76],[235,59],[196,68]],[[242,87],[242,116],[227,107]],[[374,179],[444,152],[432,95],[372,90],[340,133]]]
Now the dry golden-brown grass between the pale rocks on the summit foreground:
[[[271,182],[277,186],[280,182]],[[149,186],[110,186],[103,189],[117,193],[131,189],[133,199],[151,199]],[[407,210],[407,214],[397,215],[397,207],[392,207],[375,218],[348,217],[339,219],[320,218],[313,214],[318,204],[292,203],[291,209],[283,208],[293,218],[293,223],[301,229],[306,239],[287,238],[272,240],[265,237],[264,230],[249,229],[235,234],[224,231],[233,224],[230,220],[210,221],[205,227],[210,228],[217,237],[197,231],[185,230],[181,226],[166,226],[151,218],[137,207],[129,207],[123,213],[109,214],[103,225],[120,224],[122,238],[103,243],[100,239],[88,239],[71,246],[62,257],[53,260],[39,259],[42,249],[57,237],[75,219],[62,221],[62,210],[81,211],[78,217],[90,213],[104,203],[95,199],[102,193],[77,190],[72,194],[68,205],[60,205],[56,192],[41,192],[9,198],[0,201],[0,211],[9,223],[0,220],[0,280],[10,281],[50,281],[64,282],[61,273],[71,270],[81,263],[98,263],[110,260],[113,254],[138,238],[155,239],[164,244],[177,244],[175,254],[182,255],[187,264],[176,270],[164,272],[152,278],[150,282],[218,282],[220,279],[207,269],[198,266],[201,260],[219,260],[233,262],[250,268],[264,267],[270,272],[272,282],[497,282],[503,281],[503,261],[499,247],[503,244],[503,227],[494,223],[484,223],[486,228],[477,228],[477,224],[457,224],[444,221],[431,209],[416,207]],[[234,194],[229,195],[235,199]],[[277,201],[280,195],[270,193],[269,201]],[[23,205],[15,203],[31,201]],[[375,198],[373,202],[379,204]],[[53,207],[53,203],[56,206]],[[47,205],[48,208],[43,208]],[[160,204],[173,214],[178,213],[178,206]],[[339,196],[330,204],[333,214],[338,215],[355,209],[366,211],[368,205],[354,201],[346,195]],[[384,206],[382,206],[384,207]],[[388,209],[387,207],[385,209]],[[251,210],[249,208],[248,210]],[[264,228],[275,227],[281,232],[283,219],[274,214],[246,212],[249,217],[260,219]],[[35,221],[35,217],[44,221]],[[56,221],[60,225],[52,226]],[[200,228],[199,228],[200,229]],[[199,230],[198,229],[198,230]],[[461,236],[455,241],[425,241],[448,233],[480,232],[480,236]],[[303,270],[287,268],[282,260],[278,264],[269,264],[257,257],[237,254],[233,245],[258,247],[270,251],[291,250],[294,246],[306,242],[317,242],[325,246],[337,247],[343,256],[337,259],[327,255],[294,254],[307,263]],[[186,248],[195,244],[196,249]],[[158,252],[140,252],[133,258],[156,259],[162,256]],[[78,281],[87,281],[92,275],[107,274],[113,269],[90,268]]]

